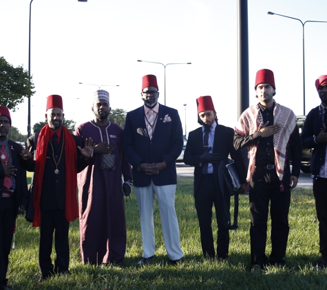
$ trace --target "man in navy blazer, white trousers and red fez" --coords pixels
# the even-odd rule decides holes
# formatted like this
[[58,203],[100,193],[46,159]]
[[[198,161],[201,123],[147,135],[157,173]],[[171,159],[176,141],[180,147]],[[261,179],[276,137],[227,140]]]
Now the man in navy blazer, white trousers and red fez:
[[124,151],[133,166],[134,189],[140,209],[143,258],[138,265],[148,264],[156,251],[156,197],[166,251],[175,265],[183,256],[175,211],[176,159],[182,152],[182,124],[176,109],[158,103],[156,76],[143,76],[141,98],[144,105],[127,113],[123,133]]

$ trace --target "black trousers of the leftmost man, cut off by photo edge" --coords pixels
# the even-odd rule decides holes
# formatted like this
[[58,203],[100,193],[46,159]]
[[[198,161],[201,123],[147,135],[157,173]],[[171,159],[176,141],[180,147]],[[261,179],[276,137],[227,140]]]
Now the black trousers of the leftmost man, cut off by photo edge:
[[17,211],[14,196],[0,199],[0,287],[3,287],[7,285],[6,274]]

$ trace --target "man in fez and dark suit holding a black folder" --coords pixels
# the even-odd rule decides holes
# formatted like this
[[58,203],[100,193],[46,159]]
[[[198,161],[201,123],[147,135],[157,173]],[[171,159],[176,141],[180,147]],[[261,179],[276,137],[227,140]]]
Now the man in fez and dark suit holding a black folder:
[[[235,161],[244,181],[246,166],[240,150],[233,146],[233,129],[218,124],[217,113],[211,96],[196,99],[198,107],[198,123],[200,128],[189,133],[189,140],[184,152],[184,163],[194,166],[194,201],[198,214],[202,253],[204,258],[217,258],[222,262],[229,255],[229,221],[225,209],[230,207],[230,195],[220,181],[220,163],[229,155]],[[215,206],[215,216],[218,225],[217,251],[213,243],[211,228],[212,207]]]

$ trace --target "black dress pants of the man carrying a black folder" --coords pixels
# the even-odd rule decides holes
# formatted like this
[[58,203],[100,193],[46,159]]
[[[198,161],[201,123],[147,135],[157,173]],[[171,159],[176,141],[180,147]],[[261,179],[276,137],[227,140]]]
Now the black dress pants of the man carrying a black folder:
[[222,192],[216,188],[213,174],[202,175],[199,190],[196,192],[195,203],[204,257],[215,257],[211,228],[212,206],[215,205],[215,215],[218,224],[217,258],[227,258],[229,253],[228,222],[224,214]]

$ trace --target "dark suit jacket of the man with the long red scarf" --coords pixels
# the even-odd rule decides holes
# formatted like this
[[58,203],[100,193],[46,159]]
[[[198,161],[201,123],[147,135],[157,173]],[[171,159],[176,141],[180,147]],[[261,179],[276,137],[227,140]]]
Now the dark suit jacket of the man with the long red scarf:
[[[61,132],[61,142],[58,146],[58,152],[54,155],[57,156],[56,160],[58,161],[58,157],[60,156],[60,150],[63,143],[63,131]],[[77,172],[81,172],[86,166],[87,162],[81,156],[80,151],[77,146],[80,146],[78,137],[73,135],[74,141],[76,143],[77,150]],[[35,134],[28,138],[28,150],[32,153],[32,158],[27,162],[28,171],[35,171]],[[47,157],[45,161],[45,170],[43,173],[43,183],[42,183],[42,194],[41,194],[41,210],[56,210],[61,209],[65,210],[65,150],[63,150],[61,161],[59,162],[58,169],[59,174],[55,175],[54,170],[56,166],[54,164],[54,160],[52,157],[52,148],[51,145],[48,144]],[[68,170],[68,169],[67,169]],[[32,177],[31,184],[31,192],[34,188],[34,175]],[[77,188],[77,185],[76,185]]]

